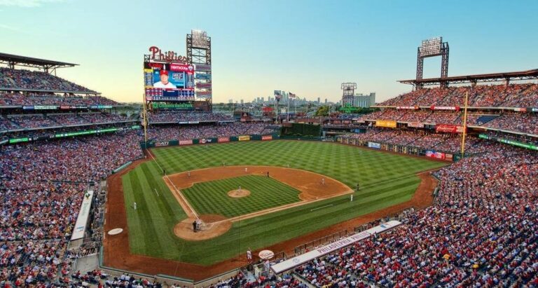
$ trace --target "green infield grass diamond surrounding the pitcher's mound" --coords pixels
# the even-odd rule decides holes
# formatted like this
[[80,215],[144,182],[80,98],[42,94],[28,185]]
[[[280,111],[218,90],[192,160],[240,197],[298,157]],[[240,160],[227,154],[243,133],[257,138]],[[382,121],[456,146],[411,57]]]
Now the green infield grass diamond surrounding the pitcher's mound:
[[[250,191],[243,198],[231,198],[228,191],[239,186]],[[297,189],[273,178],[249,175],[196,183],[181,189],[198,214],[221,214],[228,218],[298,202]]]

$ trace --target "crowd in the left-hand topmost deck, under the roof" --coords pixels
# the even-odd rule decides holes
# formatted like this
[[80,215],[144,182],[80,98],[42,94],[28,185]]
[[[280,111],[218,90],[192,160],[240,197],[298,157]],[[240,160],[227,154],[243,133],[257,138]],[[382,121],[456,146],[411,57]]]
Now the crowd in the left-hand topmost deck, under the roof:
[[95,92],[43,71],[0,67],[0,88]]

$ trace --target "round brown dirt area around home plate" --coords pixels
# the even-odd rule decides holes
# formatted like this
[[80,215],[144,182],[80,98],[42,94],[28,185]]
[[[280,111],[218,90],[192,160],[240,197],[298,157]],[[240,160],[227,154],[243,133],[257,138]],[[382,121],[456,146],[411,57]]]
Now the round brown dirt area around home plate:
[[232,228],[232,222],[226,220],[227,218],[222,215],[205,214],[200,215],[200,219],[203,223],[201,231],[196,233],[193,231],[195,218],[190,217],[174,226],[174,234],[185,240],[199,241],[215,238]]

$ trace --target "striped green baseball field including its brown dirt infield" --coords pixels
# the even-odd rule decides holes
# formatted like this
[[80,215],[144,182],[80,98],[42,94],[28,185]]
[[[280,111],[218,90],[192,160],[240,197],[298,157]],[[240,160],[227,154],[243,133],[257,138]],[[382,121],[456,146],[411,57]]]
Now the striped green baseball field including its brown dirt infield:
[[[151,153],[153,159],[121,177],[130,253],[198,265],[406,202],[420,184],[418,172],[446,165],[342,144],[282,140]],[[239,186],[248,195],[234,197]],[[193,217],[228,227],[206,240],[186,240],[178,227]]]

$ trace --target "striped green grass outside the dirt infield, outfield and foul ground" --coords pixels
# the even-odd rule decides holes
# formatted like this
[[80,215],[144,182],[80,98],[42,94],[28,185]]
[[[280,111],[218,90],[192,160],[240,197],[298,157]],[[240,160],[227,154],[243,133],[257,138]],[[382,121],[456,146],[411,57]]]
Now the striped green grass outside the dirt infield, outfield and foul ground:
[[[420,184],[416,172],[446,165],[381,151],[324,142],[235,142],[153,149],[155,161],[143,163],[123,176],[130,249],[165,259],[209,265],[244,253],[317,231],[385,207],[405,202]],[[273,165],[309,170],[360,190],[319,203],[266,214],[233,224],[228,233],[205,241],[177,238],[174,225],[186,214],[162,179],[167,174],[226,165]],[[156,192],[157,191],[157,192]],[[247,197],[248,198],[248,197]],[[246,199],[246,198],[245,198]],[[332,205],[326,207],[327,205]],[[324,207],[312,211],[316,207]],[[195,208],[199,209],[199,208]],[[208,214],[214,214],[214,212]]]

